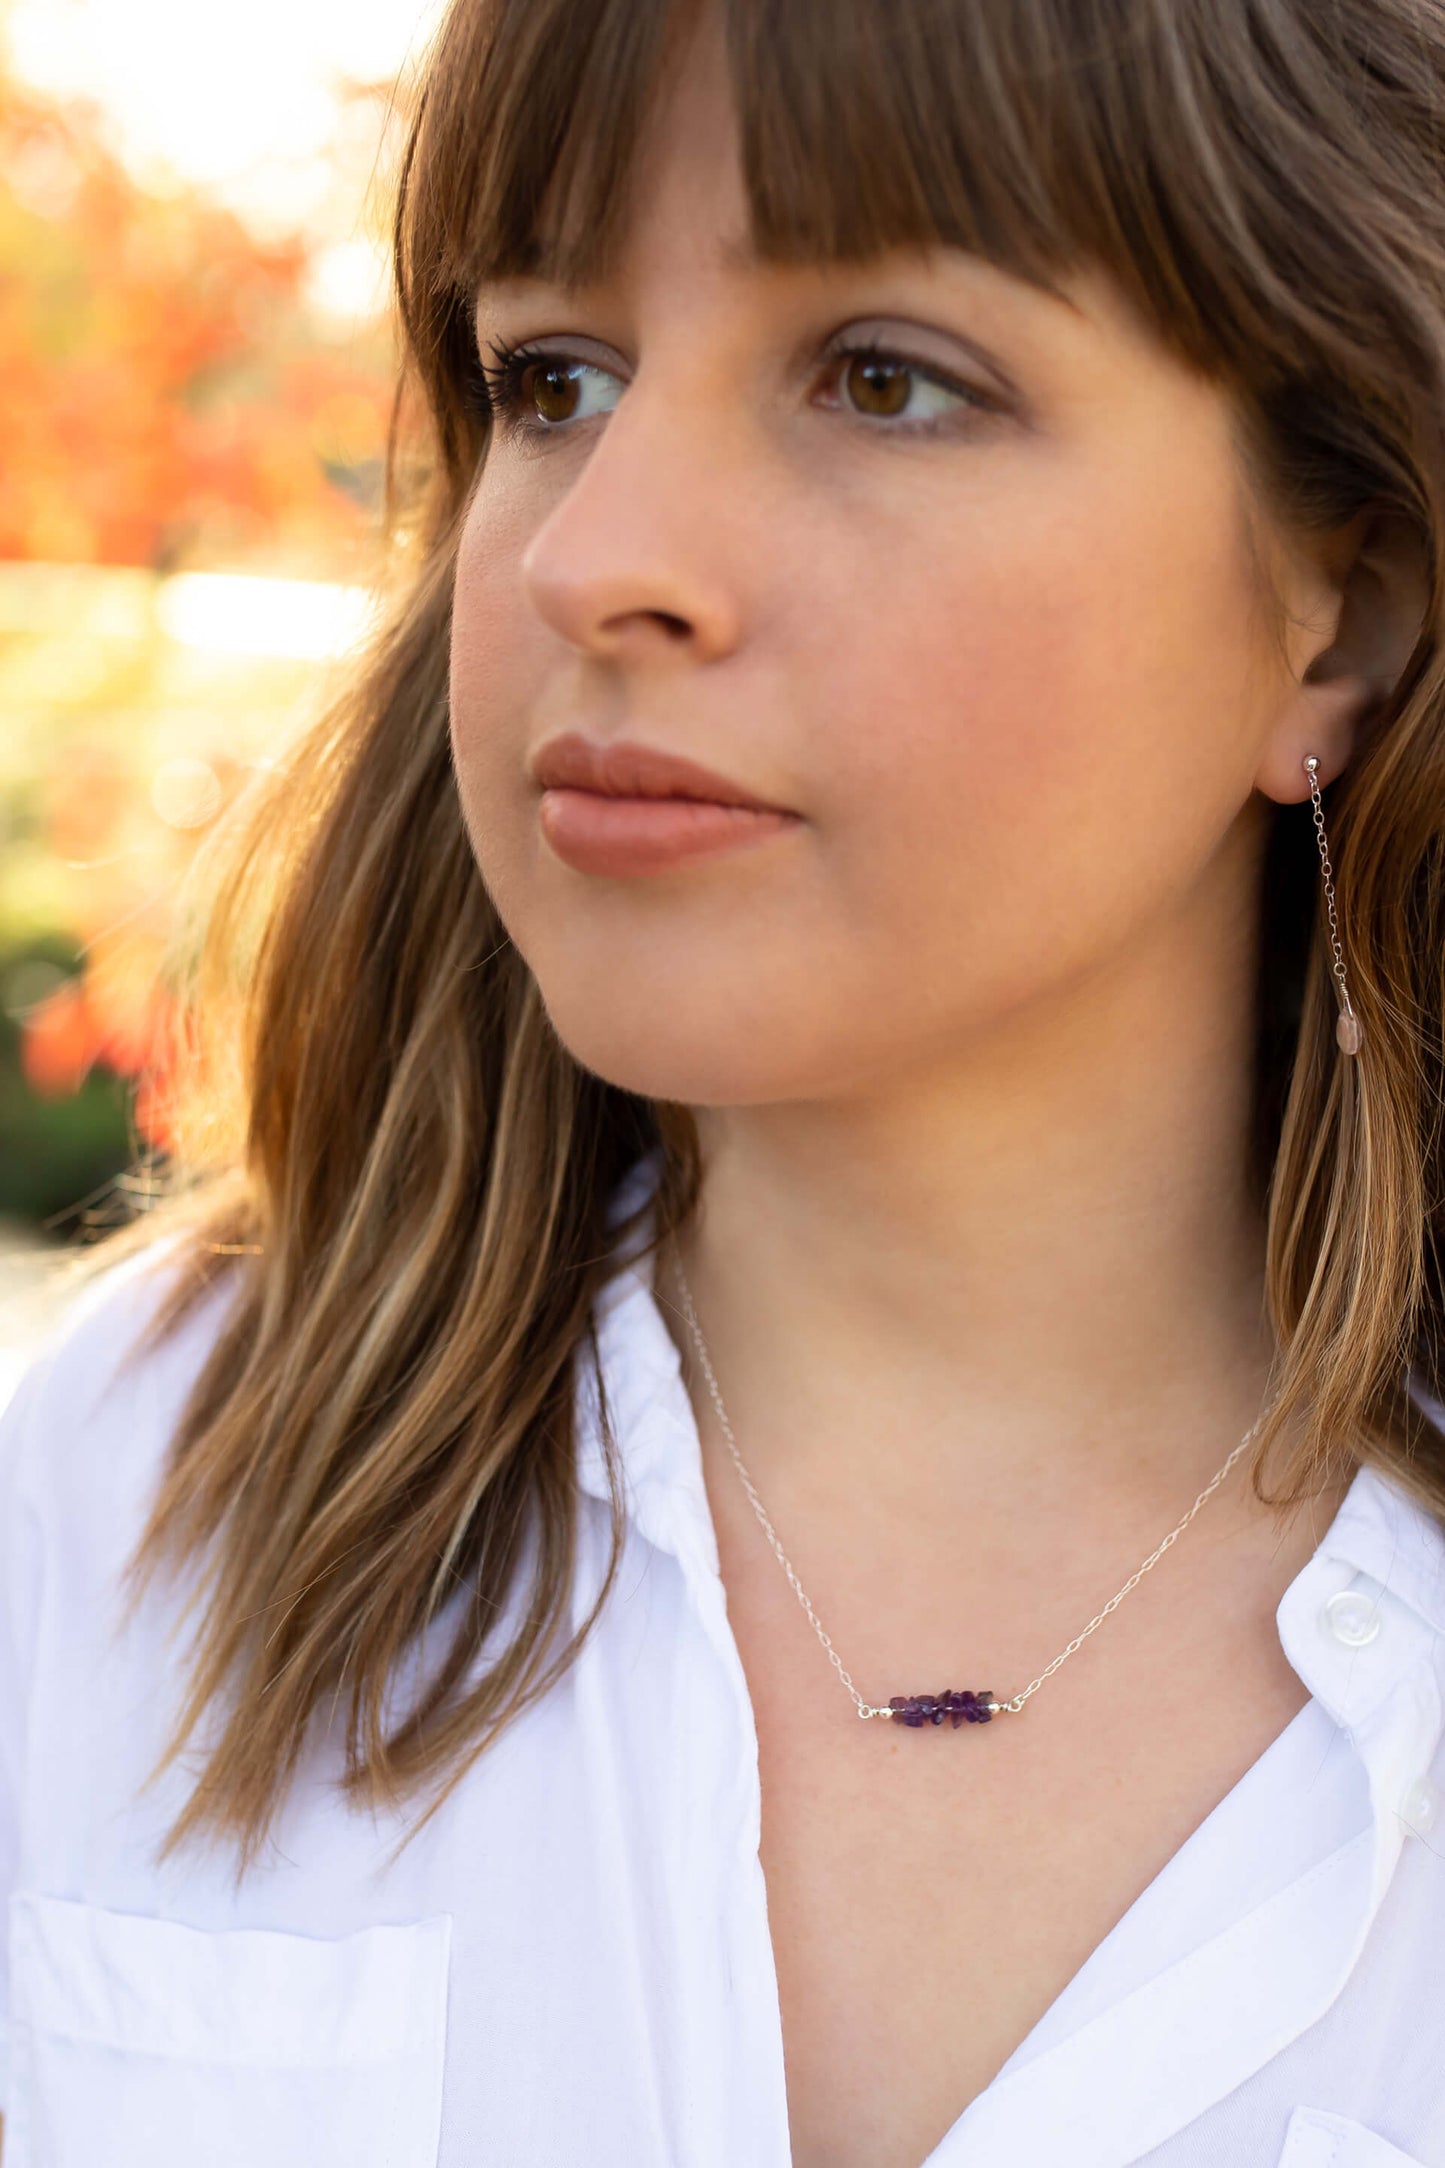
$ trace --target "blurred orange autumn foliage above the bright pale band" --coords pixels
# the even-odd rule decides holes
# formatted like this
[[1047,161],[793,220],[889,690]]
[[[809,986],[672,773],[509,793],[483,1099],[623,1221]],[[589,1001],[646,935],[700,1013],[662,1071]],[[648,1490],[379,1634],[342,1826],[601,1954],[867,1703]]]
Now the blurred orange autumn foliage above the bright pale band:
[[325,566],[364,535],[390,343],[327,343],[305,273],[0,80],[0,557]]

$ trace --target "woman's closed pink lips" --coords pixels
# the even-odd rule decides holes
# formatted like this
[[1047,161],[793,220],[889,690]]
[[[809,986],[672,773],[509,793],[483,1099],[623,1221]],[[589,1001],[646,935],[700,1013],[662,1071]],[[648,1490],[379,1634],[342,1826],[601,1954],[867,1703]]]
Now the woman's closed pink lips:
[[799,820],[680,754],[576,731],[548,739],[531,772],[544,785],[542,835],[578,874],[656,874]]

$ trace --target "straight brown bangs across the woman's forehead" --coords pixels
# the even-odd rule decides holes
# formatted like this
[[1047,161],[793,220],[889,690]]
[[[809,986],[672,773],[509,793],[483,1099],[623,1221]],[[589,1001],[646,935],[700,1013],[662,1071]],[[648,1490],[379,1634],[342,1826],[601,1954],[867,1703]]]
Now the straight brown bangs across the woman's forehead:
[[[1098,260],[1181,353],[1218,364],[1218,295],[1150,158],[1166,89],[1150,7],[717,4],[758,262],[945,245],[1057,293]],[[442,286],[609,275],[648,108],[695,15],[698,0],[453,4],[418,143]]]

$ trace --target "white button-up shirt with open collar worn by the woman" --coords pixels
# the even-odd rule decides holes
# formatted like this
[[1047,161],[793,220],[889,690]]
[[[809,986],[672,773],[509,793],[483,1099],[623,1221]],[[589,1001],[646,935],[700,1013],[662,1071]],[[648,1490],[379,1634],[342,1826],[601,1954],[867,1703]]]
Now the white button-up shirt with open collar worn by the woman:
[[[178,1596],[113,1630],[227,1301],[117,1375],[162,1270],[87,1290],[0,1418],[4,2168],[789,2168],[756,1728],[648,1260],[598,1301],[628,1541],[581,1659],[403,1849],[318,1732],[240,1888],[154,1860]],[[581,1357],[576,1392],[574,1622],[607,1561]],[[1361,1470],[1278,1633],[1311,1700],[927,2168],[1445,2168],[1434,1520]]]

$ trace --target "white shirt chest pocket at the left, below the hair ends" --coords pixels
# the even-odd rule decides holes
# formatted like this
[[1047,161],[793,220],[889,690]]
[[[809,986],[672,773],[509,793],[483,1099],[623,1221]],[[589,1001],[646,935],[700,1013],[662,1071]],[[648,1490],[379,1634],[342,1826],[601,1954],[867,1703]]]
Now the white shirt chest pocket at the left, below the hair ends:
[[13,1895],[4,2168],[433,2168],[448,1945]]

